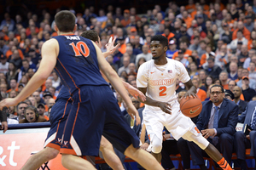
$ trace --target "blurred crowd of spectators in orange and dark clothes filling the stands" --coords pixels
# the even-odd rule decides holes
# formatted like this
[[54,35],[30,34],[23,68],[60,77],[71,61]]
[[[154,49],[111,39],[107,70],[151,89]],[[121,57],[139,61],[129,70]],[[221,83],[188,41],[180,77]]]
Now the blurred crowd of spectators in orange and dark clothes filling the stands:
[[[61,10],[57,8],[55,12]],[[93,6],[84,13],[70,9],[77,17],[77,31],[95,30],[101,37],[102,52],[110,37],[120,43],[107,60],[119,77],[137,88],[137,69],[152,58],[150,38],[160,34],[168,38],[166,56],[185,65],[202,101],[209,99],[209,87],[220,84],[232,93],[241,89],[240,99],[256,99],[256,1],[189,0],[186,6],[168,3],[165,8],[155,4],[146,14],[137,8],[108,5],[95,11]],[[41,48],[56,36],[54,15],[26,11],[10,17],[7,12],[0,25],[0,92],[3,98],[14,98],[37,71]],[[177,93],[184,86],[177,80]],[[26,106],[37,108],[41,121],[49,120],[49,108],[55,104],[61,81],[53,71],[41,88],[19,105],[8,109],[10,119],[24,119]],[[237,98],[237,97],[236,97]],[[119,99],[119,105],[121,101]],[[143,106],[143,105],[142,105]],[[31,109],[32,110],[32,109]],[[27,120],[29,122],[29,120]]]

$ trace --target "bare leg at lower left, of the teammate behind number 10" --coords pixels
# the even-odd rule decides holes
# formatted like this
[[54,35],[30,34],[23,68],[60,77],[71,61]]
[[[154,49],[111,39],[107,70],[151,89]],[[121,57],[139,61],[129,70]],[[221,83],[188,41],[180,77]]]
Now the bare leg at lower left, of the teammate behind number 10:
[[39,151],[34,156],[31,156],[25,163],[21,170],[35,170],[38,169],[45,161],[49,161],[58,156],[59,150],[46,147],[44,150]]

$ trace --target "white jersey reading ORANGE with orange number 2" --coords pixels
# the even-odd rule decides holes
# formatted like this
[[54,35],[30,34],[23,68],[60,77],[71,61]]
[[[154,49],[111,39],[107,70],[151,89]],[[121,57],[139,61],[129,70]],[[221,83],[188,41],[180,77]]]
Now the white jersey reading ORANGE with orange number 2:
[[[190,77],[184,65],[175,60],[167,59],[166,65],[155,65],[151,59],[140,66],[137,72],[137,87],[147,88],[147,96],[151,99],[171,103],[176,99],[177,78],[185,83]],[[145,106],[145,110],[159,110],[160,107]]]

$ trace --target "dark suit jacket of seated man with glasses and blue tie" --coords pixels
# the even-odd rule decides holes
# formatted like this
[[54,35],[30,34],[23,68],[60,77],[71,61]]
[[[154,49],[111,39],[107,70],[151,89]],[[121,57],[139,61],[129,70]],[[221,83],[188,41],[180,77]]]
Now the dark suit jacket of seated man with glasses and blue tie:
[[[212,111],[212,101],[202,102],[202,110],[196,122],[199,130],[207,129]],[[222,133],[233,135],[236,133],[236,124],[238,121],[238,106],[229,99],[224,99],[218,111],[217,136]]]

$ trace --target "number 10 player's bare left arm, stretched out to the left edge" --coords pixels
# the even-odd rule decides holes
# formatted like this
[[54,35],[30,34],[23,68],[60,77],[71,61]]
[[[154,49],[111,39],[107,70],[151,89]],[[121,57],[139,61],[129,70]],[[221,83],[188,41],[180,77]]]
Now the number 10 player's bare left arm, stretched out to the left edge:
[[42,47],[42,60],[38,71],[27,83],[26,87],[18,94],[17,97],[13,99],[3,99],[0,102],[0,109],[2,110],[4,106],[17,105],[20,101],[23,101],[30,94],[35,92],[49,77],[49,74],[54,69],[56,64],[56,58],[59,53],[58,42],[55,39],[50,39],[44,42]]

